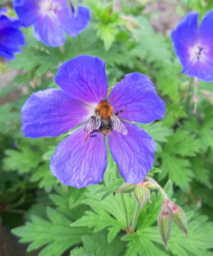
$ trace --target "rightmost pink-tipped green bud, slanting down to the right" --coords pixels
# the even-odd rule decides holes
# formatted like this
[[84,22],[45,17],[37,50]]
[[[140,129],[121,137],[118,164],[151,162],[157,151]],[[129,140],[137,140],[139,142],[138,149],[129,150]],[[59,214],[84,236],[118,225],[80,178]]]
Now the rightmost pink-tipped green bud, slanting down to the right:
[[167,200],[166,202],[169,209],[172,212],[172,217],[174,222],[176,223],[178,228],[180,228],[186,234],[186,237],[188,238],[189,235],[187,232],[187,222],[186,222],[186,216],[184,211],[175,202],[172,202],[170,200]]

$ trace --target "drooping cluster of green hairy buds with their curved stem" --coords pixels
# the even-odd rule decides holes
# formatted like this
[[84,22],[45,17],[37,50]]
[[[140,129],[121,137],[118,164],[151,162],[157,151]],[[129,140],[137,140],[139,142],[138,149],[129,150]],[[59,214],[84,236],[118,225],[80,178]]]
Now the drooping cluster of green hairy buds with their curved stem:
[[124,183],[115,193],[134,193],[135,199],[141,208],[146,202],[151,203],[150,189],[157,189],[163,197],[163,204],[158,216],[158,227],[166,250],[168,250],[168,241],[172,232],[173,221],[188,238],[186,217],[184,211],[176,203],[172,202],[160,185],[151,177],[147,176],[145,180],[138,184]]

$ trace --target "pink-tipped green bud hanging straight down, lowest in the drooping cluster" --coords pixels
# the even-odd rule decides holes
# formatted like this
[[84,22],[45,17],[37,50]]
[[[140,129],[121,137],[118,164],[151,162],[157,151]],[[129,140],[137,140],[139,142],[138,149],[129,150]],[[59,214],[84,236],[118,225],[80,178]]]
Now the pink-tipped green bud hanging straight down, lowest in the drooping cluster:
[[168,251],[168,240],[172,232],[172,216],[166,201],[163,202],[158,216],[158,228],[160,236],[164,241],[165,248]]

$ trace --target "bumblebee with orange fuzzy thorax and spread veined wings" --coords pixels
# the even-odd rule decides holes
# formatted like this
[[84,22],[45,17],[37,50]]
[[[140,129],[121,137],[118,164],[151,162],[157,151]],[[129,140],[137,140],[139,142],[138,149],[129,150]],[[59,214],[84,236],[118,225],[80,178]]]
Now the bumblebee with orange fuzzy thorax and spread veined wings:
[[84,126],[84,131],[87,132],[85,141],[89,139],[89,136],[95,137],[96,135],[93,135],[95,132],[100,132],[106,136],[111,134],[112,130],[116,130],[123,135],[127,135],[124,123],[117,117],[124,110],[114,113],[111,104],[106,100],[102,100],[95,109],[94,115],[90,117]]

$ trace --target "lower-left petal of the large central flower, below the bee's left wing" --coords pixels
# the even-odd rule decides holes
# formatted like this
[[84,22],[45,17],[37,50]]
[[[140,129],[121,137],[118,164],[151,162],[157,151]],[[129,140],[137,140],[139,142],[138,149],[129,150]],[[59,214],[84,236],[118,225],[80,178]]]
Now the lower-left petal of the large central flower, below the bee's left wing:
[[50,159],[50,170],[63,184],[84,188],[102,181],[106,170],[107,154],[105,137],[84,140],[84,128],[76,130],[56,148]]

